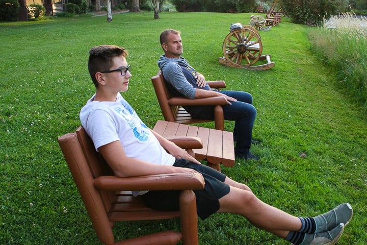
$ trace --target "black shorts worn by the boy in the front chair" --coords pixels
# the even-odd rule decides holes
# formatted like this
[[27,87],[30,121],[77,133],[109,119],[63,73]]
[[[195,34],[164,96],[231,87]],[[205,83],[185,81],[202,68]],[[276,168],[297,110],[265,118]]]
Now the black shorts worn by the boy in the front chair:
[[[226,176],[211,167],[185,159],[176,159],[173,166],[195,169],[204,177],[204,189],[194,190],[198,216],[205,219],[217,212],[219,210],[218,200],[229,193],[229,185],[224,183]],[[152,209],[178,211],[180,193],[180,190],[151,190],[141,197],[145,205]]]

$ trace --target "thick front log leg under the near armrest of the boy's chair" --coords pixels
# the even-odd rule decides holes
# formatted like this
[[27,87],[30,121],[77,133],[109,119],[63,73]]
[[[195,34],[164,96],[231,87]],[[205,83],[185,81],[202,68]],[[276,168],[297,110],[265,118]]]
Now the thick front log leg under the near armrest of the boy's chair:
[[180,219],[183,245],[198,245],[198,227],[195,193],[182,190],[180,194]]

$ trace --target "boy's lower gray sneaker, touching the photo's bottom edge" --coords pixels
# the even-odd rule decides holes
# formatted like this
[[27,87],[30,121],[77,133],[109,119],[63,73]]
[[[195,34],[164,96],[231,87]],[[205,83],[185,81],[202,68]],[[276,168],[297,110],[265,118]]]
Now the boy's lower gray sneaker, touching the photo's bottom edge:
[[340,223],[331,231],[316,233],[316,234],[305,234],[305,238],[300,245],[333,245],[335,244],[340,236],[343,234],[344,225]]

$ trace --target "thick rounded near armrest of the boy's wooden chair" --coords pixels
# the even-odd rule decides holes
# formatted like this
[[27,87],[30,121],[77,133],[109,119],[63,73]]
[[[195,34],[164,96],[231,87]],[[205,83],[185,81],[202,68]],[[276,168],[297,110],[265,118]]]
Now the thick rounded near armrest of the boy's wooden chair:
[[137,177],[100,176],[93,185],[102,190],[198,190],[204,188],[199,173],[146,175]]

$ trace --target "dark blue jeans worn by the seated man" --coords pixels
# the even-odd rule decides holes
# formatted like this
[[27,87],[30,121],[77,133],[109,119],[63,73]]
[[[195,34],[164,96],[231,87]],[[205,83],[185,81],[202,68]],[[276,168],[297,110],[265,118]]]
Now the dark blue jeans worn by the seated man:
[[[235,155],[246,155],[250,151],[252,128],[256,118],[256,109],[252,105],[252,95],[243,91],[227,91],[220,93],[226,94],[237,102],[223,107],[224,119],[234,121],[233,137],[237,140],[234,148]],[[213,119],[213,106],[192,106],[185,107],[192,117],[198,119]]]

